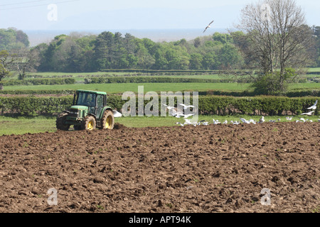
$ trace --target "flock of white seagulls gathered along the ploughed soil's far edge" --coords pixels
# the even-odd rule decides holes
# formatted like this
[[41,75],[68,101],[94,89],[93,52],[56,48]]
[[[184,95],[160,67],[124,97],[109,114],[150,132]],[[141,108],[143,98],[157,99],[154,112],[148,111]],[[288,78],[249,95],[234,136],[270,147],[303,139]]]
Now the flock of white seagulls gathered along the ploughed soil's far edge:
[[[309,108],[307,108],[307,109],[309,109],[309,110],[311,110],[311,111],[306,112],[306,113],[303,113],[303,114],[301,114],[301,115],[311,116],[311,115],[314,113],[315,109],[316,109],[316,104],[318,104],[318,100],[316,100],[316,102],[314,103],[314,105],[312,105],[312,106],[310,106]],[[170,116],[174,116],[174,117],[176,117],[176,118],[183,118],[183,120],[184,120],[185,122],[184,122],[184,123],[176,122],[177,125],[180,125],[180,126],[186,126],[186,125],[193,125],[193,126],[204,125],[204,126],[208,126],[208,125],[210,124],[208,121],[204,121],[204,120],[203,120],[203,121],[199,121],[199,122],[198,122],[198,121],[196,121],[196,122],[191,122],[191,120],[188,119],[188,118],[189,118],[190,116],[193,116],[194,114],[183,114],[183,112],[178,112],[177,109],[176,109],[174,106],[168,106],[168,105],[166,105],[166,104],[162,104],[162,105],[166,106],[166,109],[169,109],[169,115],[170,115]],[[184,109],[184,110],[186,110],[186,109],[188,109],[188,108],[191,108],[191,107],[193,107],[193,108],[195,107],[195,106],[191,106],[191,105],[186,106],[185,104],[178,104],[178,105],[183,106],[183,109]],[[287,119],[287,121],[292,121],[293,117],[287,116],[286,119]],[[279,121],[281,121],[280,118],[278,118],[277,120],[270,120],[269,122],[275,123],[275,122],[279,122]],[[298,122],[306,122],[306,121],[312,122],[312,120],[304,119],[304,118],[299,118],[299,120],[297,119],[295,122],[298,123]],[[318,119],[318,121],[320,122],[320,119]],[[253,120],[253,119],[250,119],[250,120],[248,121],[248,120],[246,120],[245,118],[240,118],[240,121],[230,121],[230,123],[232,123],[232,124],[234,124],[234,125],[239,125],[239,124],[241,124],[241,123],[247,123],[247,124],[252,123],[252,124],[256,124],[256,123],[264,123],[264,122],[265,122],[265,117],[264,117],[264,116],[262,116],[259,121],[255,121],[255,120]],[[227,124],[227,123],[228,123],[227,120],[225,120],[225,121],[223,121],[223,122],[220,122],[220,121],[218,121],[218,120],[213,119],[213,124],[214,124],[214,125],[217,125],[217,124]]]

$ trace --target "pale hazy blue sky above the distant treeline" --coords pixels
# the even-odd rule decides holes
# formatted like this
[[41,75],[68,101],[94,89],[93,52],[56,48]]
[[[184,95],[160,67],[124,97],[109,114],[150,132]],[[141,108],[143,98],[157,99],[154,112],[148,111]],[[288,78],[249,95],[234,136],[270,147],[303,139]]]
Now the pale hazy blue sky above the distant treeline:
[[[233,28],[257,0],[0,0],[0,28],[108,30]],[[54,4],[53,7],[49,7]],[[309,26],[320,25],[320,1],[297,0]],[[55,8],[57,6],[57,8]]]

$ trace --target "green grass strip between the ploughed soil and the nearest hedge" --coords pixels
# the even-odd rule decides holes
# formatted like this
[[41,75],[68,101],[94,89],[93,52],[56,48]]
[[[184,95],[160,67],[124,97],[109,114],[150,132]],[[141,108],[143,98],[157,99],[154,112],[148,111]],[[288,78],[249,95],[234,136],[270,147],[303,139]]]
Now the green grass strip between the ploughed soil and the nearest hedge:
[[[213,123],[213,119],[223,122],[227,120],[230,121],[240,121],[240,118],[245,118],[250,120],[251,118],[255,121],[259,121],[260,116],[199,116],[198,121],[208,121],[208,123]],[[309,118],[314,122],[318,122],[318,116],[295,116],[292,123],[295,123],[299,118]],[[265,117],[266,122],[270,120],[277,120],[280,118],[281,122],[287,121],[285,116],[267,116]],[[190,118],[191,119],[191,118]],[[161,127],[161,126],[178,126],[176,123],[184,123],[183,118],[175,117],[156,117],[156,116],[135,116],[135,117],[121,117],[114,118],[115,123],[121,123],[124,126],[132,128],[142,128],[142,127]],[[72,128],[70,128],[72,130]],[[11,118],[6,116],[0,116],[0,136],[1,135],[22,135],[26,133],[45,133],[45,132],[55,132],[55,118]]]

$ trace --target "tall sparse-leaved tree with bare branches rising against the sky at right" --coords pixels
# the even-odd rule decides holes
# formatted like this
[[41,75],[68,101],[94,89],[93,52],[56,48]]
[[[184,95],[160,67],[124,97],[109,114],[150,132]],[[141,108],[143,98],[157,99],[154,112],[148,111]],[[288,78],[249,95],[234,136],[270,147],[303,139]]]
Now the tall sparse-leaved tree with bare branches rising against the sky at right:
[[302,8],[294,0],[264,0],[242,9],[238,28],[249,42],[244,50],[250,59],[247,68],[260,70],[257,79],[275,74],[272,78],[282,92],[288,79],[286,69],[299,72],[311,64],[314,37],[305,24]]

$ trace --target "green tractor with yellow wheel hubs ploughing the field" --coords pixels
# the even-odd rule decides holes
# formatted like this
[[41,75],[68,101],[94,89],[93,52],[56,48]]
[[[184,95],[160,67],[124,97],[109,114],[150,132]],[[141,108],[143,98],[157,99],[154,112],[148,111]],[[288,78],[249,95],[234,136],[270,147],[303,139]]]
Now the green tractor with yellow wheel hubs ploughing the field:
[[70,126],[75,130],[112,129],[114,113],[107,106],[107,93],[77,90],[73,106],[59,114],[55,124],[58,130],[63,131],[68,131]]

